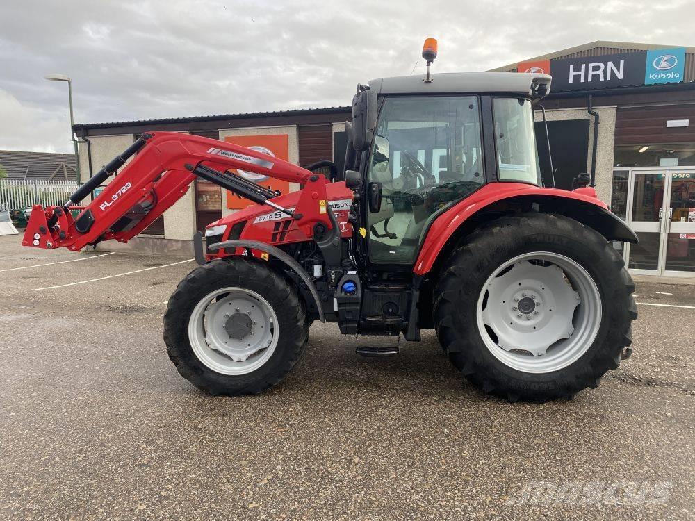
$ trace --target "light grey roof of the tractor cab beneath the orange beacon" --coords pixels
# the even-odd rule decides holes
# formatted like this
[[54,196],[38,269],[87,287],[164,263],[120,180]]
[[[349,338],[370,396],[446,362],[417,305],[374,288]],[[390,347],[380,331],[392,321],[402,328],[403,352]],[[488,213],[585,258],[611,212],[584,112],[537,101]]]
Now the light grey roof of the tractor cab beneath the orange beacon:
[[[377,78],[369,88],[377,94],[462,94],[468,92],[518,94],[531,97],[538,83],[548,85],[550,76],[519,72],[443,72],[432,74],[432,82],[425,83],[423,74]],[[546,93],[547,93],[546,92]]]

